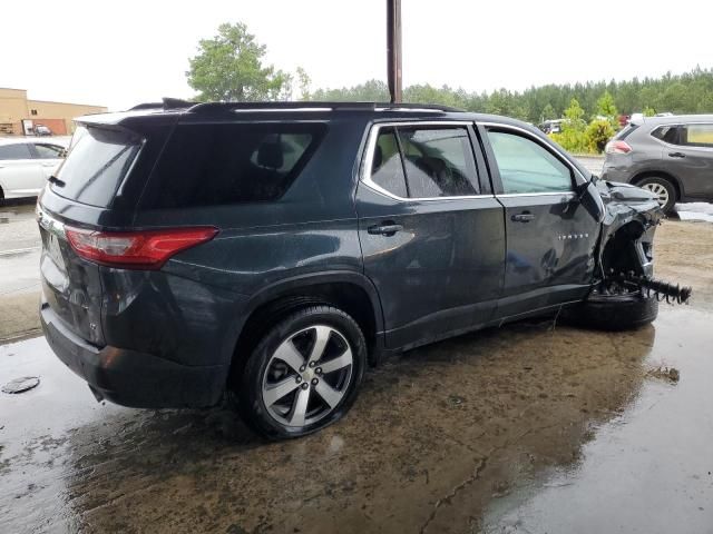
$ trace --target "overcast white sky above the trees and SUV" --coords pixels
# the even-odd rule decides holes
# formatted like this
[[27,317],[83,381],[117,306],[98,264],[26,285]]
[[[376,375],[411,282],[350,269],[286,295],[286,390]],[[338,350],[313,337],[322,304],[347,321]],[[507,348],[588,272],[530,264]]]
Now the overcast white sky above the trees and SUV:
[[[0,10],[0,87],[126,109],[187,98],[188,58],[242,21],[312,88],[385,80],[385,0],[33,0]],[[713,2],[402,0],[403,85],[468,91],[713,67]]]

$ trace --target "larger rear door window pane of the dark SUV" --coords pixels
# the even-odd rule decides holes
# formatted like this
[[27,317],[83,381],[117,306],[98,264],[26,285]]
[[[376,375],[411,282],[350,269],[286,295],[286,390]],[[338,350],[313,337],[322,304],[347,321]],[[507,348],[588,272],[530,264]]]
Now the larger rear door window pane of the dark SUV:
[[398,128],[410,197],[478,195],[478,175],[465,127]]

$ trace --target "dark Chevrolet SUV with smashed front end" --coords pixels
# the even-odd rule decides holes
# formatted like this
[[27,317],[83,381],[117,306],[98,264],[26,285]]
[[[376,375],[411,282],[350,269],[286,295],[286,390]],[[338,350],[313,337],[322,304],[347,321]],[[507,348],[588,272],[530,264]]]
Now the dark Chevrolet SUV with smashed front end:
[[526,123],[427,106],[166,100],[79,119],[38,201],[41,319],[98,399],[339,419],[368,364],[557,313],[653,320],[661,210]]

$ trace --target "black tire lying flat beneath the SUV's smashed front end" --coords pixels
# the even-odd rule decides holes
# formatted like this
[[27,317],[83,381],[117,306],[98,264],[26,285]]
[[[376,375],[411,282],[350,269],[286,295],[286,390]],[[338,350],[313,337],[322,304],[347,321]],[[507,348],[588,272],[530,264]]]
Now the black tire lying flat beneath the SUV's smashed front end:
[[621,332],[647,325],[658,316],[658,300],[642,295],[597,295],[564,310],[565,319],[576,326]]

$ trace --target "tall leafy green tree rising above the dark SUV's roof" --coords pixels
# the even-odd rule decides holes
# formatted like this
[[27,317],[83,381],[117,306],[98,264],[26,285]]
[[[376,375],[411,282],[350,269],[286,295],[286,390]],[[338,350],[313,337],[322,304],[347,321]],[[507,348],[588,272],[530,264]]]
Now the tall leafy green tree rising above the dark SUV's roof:
[[199,41],[198,53],[188,60],[188,85],[203,101],[284,99],[292,89],[291,77],[264,65],[265,52],[242,22],[221,24],[213,39]]

